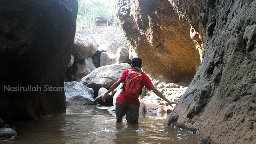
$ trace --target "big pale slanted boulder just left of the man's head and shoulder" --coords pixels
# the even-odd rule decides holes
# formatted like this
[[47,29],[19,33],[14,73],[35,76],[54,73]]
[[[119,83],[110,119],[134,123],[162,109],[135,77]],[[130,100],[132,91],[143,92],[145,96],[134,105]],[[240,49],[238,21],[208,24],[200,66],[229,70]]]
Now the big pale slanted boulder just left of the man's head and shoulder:
[[129,68],[132,67],[127,63],[102,66],[82,78],[80,83],[93,88],[95,96],[98,96],[100,88],[109,89],[119,79],[122,72]]

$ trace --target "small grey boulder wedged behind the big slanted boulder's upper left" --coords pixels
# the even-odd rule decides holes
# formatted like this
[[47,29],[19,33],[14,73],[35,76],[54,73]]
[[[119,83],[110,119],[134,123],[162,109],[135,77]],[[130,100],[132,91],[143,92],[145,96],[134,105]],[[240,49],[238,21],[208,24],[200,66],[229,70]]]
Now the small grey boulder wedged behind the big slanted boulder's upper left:
[[84,58],[82,61],[76,62],[75,65],[75,77],[77,82],[80,82],[84,76],[96,69],[91,57]]

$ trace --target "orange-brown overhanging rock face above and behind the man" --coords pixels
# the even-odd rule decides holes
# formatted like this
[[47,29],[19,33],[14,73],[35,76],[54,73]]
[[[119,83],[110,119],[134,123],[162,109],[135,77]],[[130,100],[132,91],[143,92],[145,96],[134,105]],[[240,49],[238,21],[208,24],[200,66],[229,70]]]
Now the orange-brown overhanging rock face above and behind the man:
[[153,78],[189,84],[200,65],[190,25],[168,0],[118,0],[117,16],[130,42],[130,58],[142,58]]

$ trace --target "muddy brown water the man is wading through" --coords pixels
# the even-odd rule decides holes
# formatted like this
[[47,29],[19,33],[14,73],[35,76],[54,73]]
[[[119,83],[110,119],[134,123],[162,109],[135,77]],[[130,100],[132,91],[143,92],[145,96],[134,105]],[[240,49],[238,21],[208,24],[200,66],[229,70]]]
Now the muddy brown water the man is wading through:
[[192,132],[163,124],[164,114],[140,114],[138,124],[101,106],[68,106],[66,114],[44,120],[9,122],[18,136],[0,144],[198,144]]

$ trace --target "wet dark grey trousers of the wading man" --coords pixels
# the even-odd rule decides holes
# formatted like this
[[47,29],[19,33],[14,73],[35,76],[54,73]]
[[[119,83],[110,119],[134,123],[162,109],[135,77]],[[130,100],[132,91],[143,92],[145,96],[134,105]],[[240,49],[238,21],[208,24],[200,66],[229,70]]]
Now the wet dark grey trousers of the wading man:
[[116,103],[116,122],[122,122],[123,117],[126,117],[128,123],[138,123],[139,108],[135,104],[128,102]]

